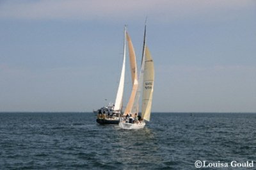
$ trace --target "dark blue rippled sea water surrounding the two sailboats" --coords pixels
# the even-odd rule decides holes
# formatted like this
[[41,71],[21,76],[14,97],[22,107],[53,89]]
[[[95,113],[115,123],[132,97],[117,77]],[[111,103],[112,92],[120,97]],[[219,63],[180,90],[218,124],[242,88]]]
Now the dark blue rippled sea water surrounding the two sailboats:
[[98,125],[95,118],[0,113],[0,169],[195,169],[196,160],[256,162],[256,114],[153,113],[141,130]]

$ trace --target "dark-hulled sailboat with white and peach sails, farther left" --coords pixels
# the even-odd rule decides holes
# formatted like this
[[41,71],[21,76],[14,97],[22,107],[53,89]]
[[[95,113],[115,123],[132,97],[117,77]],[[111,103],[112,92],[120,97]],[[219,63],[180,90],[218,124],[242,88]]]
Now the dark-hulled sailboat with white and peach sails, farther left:
[[[131,77],[132,77],[132,91],[133,91],[133,97],[130,98],[129,103],[125,109],[125,112],[130,112],[133,104],[133,98],[136,95],[137,86],[138,84],[138,76],[137,76],[137,66],[136,66],[136,57],[134,48],[132,45],[131,38],[129,34],[127,33],[127,29],[125,26],[124,29],[124,59],[123,59],[123,66],[122,66],[122,72],[120,77],[120,82],[118,86],[118,91],[116,93],[116,100],[115,105],[109,105],[108,107],[103,107],[99,110],[97,122],[100,124],[118,124],[119,123],[119,117],[122,114],[122,101],[123,101],[123,94],[124,94],[124,79],[125,79],[125,54],[126,54],[126,43],[127,40],[128,43],[128,49],[129,49],[129,59],[130,59],[130,66],[131,66]],[[135,84],[135,85],[134,85]]]

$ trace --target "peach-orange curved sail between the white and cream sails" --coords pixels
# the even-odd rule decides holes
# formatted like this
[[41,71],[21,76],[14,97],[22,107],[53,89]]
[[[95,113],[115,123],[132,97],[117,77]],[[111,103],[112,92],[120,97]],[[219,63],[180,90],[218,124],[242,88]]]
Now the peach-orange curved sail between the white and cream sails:
[[126,33],[128,48],[129,48],[129,58],[130,58],[130,66],[131,66],[131,75],[132,75],[132,93],[129,98],[129,102],[125,108],[124,115],[131,113],[132,105],[134,104],[134,98],[136,95],[136,91],[138,88],[138,75],[137,75],[137,66],[136,66],[136,56],[134,52],[134,48],[132,45],[132,41],[128,33]]

